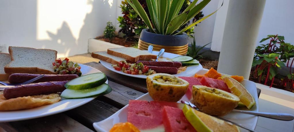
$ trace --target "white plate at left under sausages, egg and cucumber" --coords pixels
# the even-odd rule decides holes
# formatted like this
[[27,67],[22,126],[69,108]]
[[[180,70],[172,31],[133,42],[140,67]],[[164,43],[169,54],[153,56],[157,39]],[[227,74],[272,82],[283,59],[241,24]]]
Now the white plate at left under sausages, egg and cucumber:
[[[99,73],[101,71],[83,64],[81,66],[82,75],[87,75],[91,73]],[[105,82],[108,83],[108,80]],[[96,97],[85,98],[85,99],[64,99],[61,98],[61,101],[49,104],[46,106],[41,106],[33,109],[19,110],[19,111],[0,111],[0,122],[9,122],[9,121],[21,121],[27,119],[34,119],[44,116],[49,116],[64,111],[74,109],[78,106],[86,104]]]

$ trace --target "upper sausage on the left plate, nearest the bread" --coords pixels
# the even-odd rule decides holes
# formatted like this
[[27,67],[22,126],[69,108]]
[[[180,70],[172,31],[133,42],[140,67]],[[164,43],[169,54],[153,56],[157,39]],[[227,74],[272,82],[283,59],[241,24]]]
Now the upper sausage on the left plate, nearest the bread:
[[[10,83],[22,83],[30,79],[40,76],[40,74],[25,74],[25,73],[14,73],[11,74],[8,78]],[[43,78],[37,80],[37,82],[51,82],[51,81],[70,81],[77,78],[76,74],[66,74],[66,75],[44,75]]]

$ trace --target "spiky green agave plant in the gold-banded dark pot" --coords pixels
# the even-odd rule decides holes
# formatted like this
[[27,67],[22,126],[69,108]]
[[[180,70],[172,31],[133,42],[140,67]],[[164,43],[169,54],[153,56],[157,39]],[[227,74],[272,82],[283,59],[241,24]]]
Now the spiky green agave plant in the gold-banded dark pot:
[[[184,0],[146,0],[148,10],[151,16],[151,21],[148,18],[147,13],[141,6],[138,0],[127,0],[136,13],[146,23],[150,32],[163,34],[163,35],[178,35],[189,28],[195,26],[197,23],[205,20],[213,13],[205,16],[198,21],[191,23],[190,25],[183,28],[181,31],[176,32],[181,26],[190,21],[196,16],[211,0],[203,0],[196,5],[198,0],[194,0],[184,11],[179,14]],[[155,29],[154,29],[155,28]]]

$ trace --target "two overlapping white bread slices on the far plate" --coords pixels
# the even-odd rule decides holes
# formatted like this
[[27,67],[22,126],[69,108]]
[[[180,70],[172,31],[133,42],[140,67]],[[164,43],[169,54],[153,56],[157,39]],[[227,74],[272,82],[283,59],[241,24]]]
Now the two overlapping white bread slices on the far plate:
[[92,52],[91,56],[111,64],[117,64],[121,60],[134,63],[138,60],[150,60],[156,59],[157,57],[157,55],[132,47],[112,48],[107,51]]

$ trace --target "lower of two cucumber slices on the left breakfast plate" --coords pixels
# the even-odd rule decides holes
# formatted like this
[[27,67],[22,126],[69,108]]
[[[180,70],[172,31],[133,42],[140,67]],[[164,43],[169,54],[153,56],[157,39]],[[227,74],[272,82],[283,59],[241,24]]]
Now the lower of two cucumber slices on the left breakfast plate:
[[97,97],[104,94],[108,94],[111,91],[112,91],[111,87],[109,87],[108,84],[104,83],[98,87],[94,87],[91,89],[81,89],[81,90],[65,89],[60,96],[66,99],[79,99],[79,98]]

